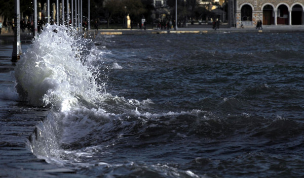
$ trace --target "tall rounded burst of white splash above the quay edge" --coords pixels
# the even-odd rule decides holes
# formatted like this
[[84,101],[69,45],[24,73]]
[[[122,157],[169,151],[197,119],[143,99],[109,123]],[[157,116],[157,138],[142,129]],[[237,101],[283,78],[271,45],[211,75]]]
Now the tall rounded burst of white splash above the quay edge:
[[[101,98],[93,69],[81,60],[79,38],[71,29],[47,24],[15,69],[17,91],[34,106],[67,110],[78,101]],[[78,97],[77,97],[78,96]]]

